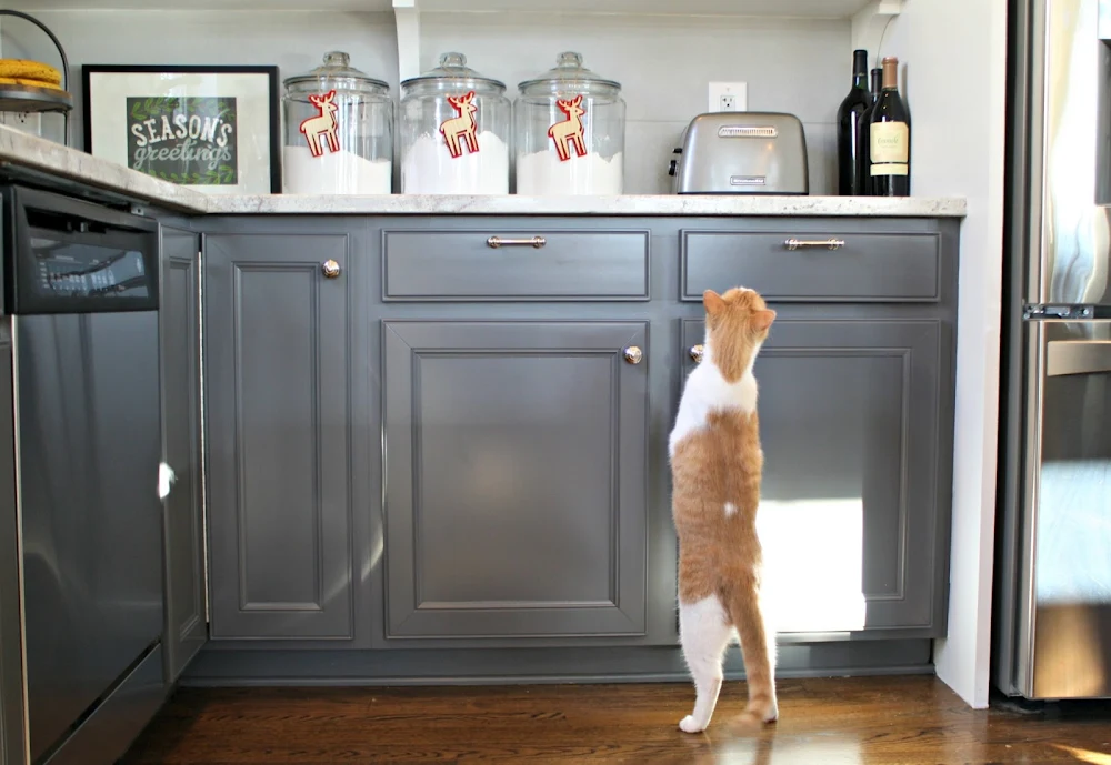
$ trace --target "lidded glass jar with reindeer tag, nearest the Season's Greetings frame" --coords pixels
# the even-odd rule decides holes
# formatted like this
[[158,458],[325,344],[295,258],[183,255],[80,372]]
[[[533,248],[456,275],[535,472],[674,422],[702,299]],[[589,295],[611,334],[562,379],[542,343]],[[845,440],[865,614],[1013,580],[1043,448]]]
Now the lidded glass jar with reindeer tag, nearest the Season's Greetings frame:
[[393,190],[390,87],[354,69],[347,53],[324,54],[311,72],[286,80],[282,191],[389,194]]

